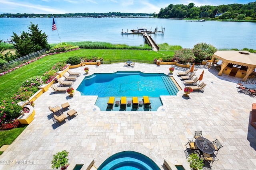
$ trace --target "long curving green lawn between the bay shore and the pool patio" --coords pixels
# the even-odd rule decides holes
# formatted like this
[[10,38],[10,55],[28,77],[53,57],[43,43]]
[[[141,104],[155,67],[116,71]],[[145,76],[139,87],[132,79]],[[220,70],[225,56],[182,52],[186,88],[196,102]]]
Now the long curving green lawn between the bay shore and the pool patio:
[[[159,51],[160,53],[174,55],[174,51]],[[70,56],[99,56],[104,61],[114,61],[122,59],[137,59],[144,61],[153,61],[154,58],[163,57],[162,54],[156,53],[155,51],[147,50],[122,50],[122,49],[79,49],[76,51],[70,51],[68,53],[61,53],[56,55],[49,55],[38,61],[27,64],[0,76],[0,100],[4,100],[15,92],[18,91],[23,81],[32,77],[40,76],[46,71],[50,70],[52,66],[59,61],[68,59]]]

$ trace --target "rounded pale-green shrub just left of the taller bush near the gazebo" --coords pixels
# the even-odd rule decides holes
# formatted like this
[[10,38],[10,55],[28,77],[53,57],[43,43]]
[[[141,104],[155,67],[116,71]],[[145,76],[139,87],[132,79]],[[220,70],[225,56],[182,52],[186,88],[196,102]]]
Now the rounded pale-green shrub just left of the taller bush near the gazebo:
[[186,49],[186,48],[175,51],[173,58],[174,60],[178,60],[179,63],[181,64],[186,64],[188,62],[192,63],[196,59],[192,49]]

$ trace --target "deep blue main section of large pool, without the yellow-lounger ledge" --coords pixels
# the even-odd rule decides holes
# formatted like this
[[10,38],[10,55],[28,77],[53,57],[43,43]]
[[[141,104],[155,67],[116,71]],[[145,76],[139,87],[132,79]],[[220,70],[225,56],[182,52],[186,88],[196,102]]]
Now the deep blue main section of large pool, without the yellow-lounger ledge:
[[162,73],[140,71],[118,71],[96,73],[86,76],[76,89],[82,95],[107,96],[149,96],[177,95],[178,88],[170,76]]

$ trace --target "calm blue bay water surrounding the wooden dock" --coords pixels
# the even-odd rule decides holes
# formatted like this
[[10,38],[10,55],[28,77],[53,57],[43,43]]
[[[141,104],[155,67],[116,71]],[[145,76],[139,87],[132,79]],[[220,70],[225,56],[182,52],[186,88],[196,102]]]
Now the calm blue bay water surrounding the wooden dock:
[[30,21],[48,35],[48,43],[67,41],[103,41],[113,44],[144,45],[140,34],[122,35],[123,31],[146,27],[165,27],[164,34],[151,34],[157,44],[168,43],[192,48],[205,42],[222,48],[256,49],[256,23],[250,22],[186,22],[157,18],[55,18],[58,32],[52,31],[52,18],[0,18],[0,40],[6,41],[20,32],[28,32]]

